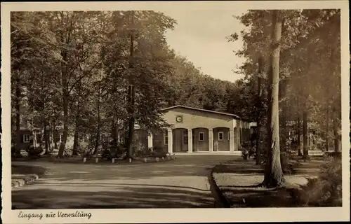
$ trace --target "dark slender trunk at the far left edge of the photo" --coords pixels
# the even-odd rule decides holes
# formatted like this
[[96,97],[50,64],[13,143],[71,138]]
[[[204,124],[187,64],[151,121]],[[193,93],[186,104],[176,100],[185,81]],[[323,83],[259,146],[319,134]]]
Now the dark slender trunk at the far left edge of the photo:
[[20,70],[18,69],[15,73],[15,111],[16,111],[16,144],[15,144],[15,157],[22,157],[21,154],[21,135],[20,135],[20,101],[21,101],[21,90],[20,90]]

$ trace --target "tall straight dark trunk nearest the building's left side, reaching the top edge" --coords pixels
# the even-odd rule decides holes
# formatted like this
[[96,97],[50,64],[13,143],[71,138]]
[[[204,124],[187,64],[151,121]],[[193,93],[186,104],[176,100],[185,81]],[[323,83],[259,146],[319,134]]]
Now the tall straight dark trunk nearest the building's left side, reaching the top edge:
[[[133,52],[134,52],[134,35],[133,35],[133,28],[134,28],[134,12],[131,12],[131,20],[132,20],[132,31],[130,37],[130,50],[129,50],[129,69],[132,71],[133,69]],[[128,87],[128,153],[127,159],[132,158],[133,156],[133,135],[134,135],[134,123],[135,123],[135,115],[134,115],[134,102],[135,102],[135,81],[132,75],[132,72],[129,73],[130,78],[130,85]]]

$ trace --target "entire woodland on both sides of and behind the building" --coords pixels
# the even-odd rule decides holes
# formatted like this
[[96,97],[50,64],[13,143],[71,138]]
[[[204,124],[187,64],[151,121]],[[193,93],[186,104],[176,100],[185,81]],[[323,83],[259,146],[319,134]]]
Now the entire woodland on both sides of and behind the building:
[[268,158],[291,149],[287,126],[300,155],[307,157],[307,132],[317,149],[340,151],[340,10],[250,10],[236,19],[246,29],[228,30],[223,41],[241,38],[234,53],[246,62],[236,71],[244,78],[230,83],[176,55],[165,34],[177,23],[162,13],[11,13],[13,136],[30,120],[48,152],[46,130],[62,125],[60,157],[68,136],[78,151],[82,135],[96,149],[102,132],[117,139],[125,130],[131,151],[135,123],[166,127],[161,109],[182,104],[258,122],[258,155],[272,146]]

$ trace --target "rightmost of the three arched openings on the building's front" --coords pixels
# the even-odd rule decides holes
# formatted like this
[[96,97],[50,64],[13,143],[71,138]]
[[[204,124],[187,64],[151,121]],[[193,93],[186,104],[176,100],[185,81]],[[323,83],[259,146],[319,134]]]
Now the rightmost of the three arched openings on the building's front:
[[230,129],[213,128],[213,151],[230,151]]

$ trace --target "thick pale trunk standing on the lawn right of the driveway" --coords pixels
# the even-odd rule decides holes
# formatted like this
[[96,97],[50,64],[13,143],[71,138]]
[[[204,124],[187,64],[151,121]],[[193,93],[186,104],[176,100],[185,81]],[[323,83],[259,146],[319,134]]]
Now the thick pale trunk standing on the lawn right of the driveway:
[[266,187],[284,186],[285,180],[280,164],[279,148],[279,56],[282,36],[282,18],[279,10],[272,12],[272,55],[270,68],[269,107],[268,107],[268,148],[265,167]]

